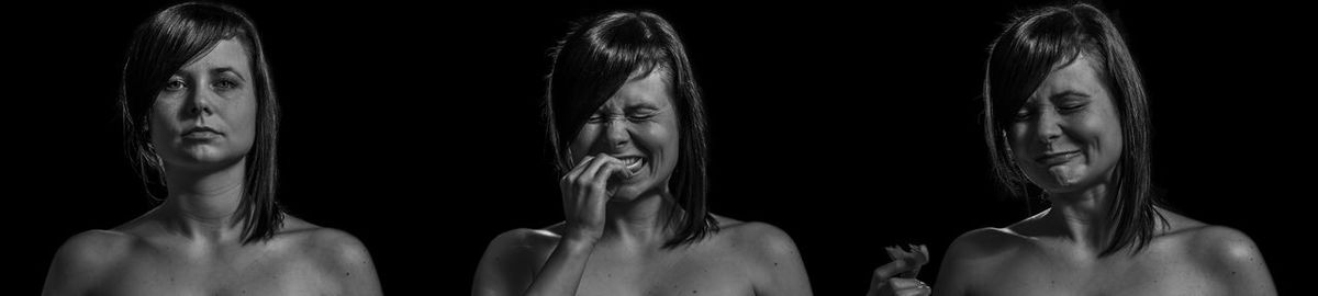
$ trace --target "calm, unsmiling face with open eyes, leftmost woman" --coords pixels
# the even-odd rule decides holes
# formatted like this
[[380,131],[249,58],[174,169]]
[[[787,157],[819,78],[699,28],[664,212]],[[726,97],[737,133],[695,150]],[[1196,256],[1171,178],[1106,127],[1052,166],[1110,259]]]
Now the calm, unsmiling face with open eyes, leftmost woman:
[[243,160],[256,134],[252,79],[246,49],[236,38],[179,68],[152,107],[152,142],[161,159],[183,168]]

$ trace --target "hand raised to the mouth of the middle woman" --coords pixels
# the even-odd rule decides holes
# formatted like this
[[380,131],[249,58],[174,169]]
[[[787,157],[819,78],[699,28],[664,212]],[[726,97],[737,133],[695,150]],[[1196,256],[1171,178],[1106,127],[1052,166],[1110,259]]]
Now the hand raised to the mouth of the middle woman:
[[567,216],[565,242],[594,246],[604,235],[604,205],[613,196],[608,180],[614,175],[630,178],[631,171],[622,160],[601,153],[583,158],[559,180],[563,214]]

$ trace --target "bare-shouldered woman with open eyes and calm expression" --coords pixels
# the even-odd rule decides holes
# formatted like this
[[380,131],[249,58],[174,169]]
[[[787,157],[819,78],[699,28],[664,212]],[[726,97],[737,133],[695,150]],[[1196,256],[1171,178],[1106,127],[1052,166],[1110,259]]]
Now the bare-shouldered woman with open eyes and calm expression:
[[74,235],[43,295],[380,295],[365,246],[275,203],[278,103],[236,8],[187,3],[138,26],[119,105],[125,146],[162,204]]

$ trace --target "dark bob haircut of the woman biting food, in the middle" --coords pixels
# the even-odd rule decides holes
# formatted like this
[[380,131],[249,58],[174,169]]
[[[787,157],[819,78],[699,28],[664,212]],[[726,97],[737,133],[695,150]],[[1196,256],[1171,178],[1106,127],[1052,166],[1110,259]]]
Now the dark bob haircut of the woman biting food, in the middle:
[[672,196],[680,209],[667,213],[666,228],[677,235],[664,247],[696,242],[718,230],[705,205],[706,121],[687,50],[677,32],[651,12],[610,12],[576,22],[551,51],[544,109],[555,163],[560,172],[572,167],[568,146],[587,120],[622,84],[646,78],[652,71],[667,74],[677,109],[679,157],[670,178]]

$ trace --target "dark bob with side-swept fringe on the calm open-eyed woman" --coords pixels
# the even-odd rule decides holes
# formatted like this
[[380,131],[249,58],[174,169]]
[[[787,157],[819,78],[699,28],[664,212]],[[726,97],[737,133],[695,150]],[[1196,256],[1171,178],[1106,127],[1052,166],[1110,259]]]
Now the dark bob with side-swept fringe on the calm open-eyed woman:
[[250,57],[256,87],[256,138],[246,154],[243,199],[235,224],[243,226],[243,243],[269,239],[283,225],[275,203],[275,134],[279,104],[270,82],[270,67],[261,49],[261,34],[243,11],[224,4],[185,3],[165,8],[137,26],[124,62],[119,109],[124,145],[133,170],[153,200],[166,191],[165,167],[150,137],[150,109],[169,78],[187,63],[211,51],[220,41],[237,38]]

